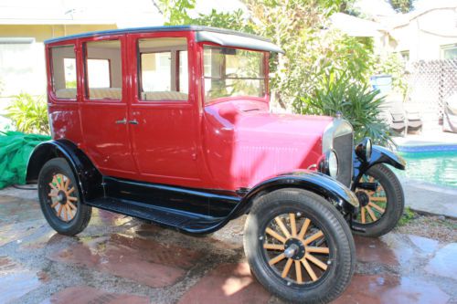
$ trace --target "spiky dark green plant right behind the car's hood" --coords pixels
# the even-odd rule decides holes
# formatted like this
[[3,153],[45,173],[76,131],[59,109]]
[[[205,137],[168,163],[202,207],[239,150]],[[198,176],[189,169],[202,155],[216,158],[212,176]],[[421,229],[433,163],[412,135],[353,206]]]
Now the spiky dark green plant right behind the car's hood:
[[377,144],[390,144],[388,125],[379,118],[383,98],[377,90],[347,76],[332,71],[317,79],[310,95],[294,103],[295,110],[303,114],[335,116],[339,111],[354,127],[356,141],[371,137]]

